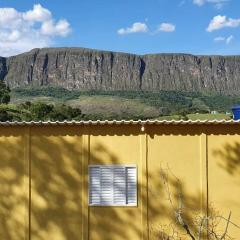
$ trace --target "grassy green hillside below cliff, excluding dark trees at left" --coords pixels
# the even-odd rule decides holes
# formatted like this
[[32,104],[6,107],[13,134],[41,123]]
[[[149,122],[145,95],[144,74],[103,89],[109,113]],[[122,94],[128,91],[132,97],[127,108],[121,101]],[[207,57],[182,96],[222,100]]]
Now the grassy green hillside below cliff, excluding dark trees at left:
[[[228,119],[238,96],[176,91],[68,91],[63,88],[19,88],[11,103],[64,103],[80,108],[86,119]],[[217,114],[209,114],[216,111]]]

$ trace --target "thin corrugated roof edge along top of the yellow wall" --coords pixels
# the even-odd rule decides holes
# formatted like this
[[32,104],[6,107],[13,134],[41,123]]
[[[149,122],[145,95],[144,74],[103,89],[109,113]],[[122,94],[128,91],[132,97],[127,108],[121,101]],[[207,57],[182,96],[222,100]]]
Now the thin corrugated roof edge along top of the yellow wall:
[[31,122],[0,122],[0,126],[24,126],[24,125],[211,125],[211,124],[240,124],[240,120],[105,120],[105,121],[31,121]]

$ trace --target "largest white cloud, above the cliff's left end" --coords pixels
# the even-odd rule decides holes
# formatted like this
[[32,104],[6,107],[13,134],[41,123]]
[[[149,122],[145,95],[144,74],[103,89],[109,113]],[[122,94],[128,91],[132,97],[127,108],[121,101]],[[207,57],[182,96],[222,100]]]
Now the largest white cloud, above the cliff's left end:
[[51,46],[55,37],[66,37],[70,32],[67,20],[55,21],[40,4],[26,12],[0,8],[0,56]]

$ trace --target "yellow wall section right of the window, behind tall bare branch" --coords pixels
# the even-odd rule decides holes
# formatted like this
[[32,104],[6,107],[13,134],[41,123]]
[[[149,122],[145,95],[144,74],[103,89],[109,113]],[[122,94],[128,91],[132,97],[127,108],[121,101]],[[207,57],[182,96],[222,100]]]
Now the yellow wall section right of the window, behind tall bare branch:
[[[176,222],[172,207],[183,204],[188,223],[195,214],[206,213],[206,159],[201,154],[204,136],[185,126],[150,127],[148,133],[149,232],[150,239],[158,239],[162,230],[171,235]],[[167,174],[167,186],[162,173]]]

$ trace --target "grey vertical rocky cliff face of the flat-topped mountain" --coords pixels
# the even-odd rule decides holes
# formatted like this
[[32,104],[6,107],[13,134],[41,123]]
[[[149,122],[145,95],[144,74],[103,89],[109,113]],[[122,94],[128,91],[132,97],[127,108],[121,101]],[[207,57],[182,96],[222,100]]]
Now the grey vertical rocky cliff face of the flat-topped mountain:
[[134,55],[83,48],[34,49],[0,58],[0,79],[12,87],[80,90],[240,92],[240,56]]

